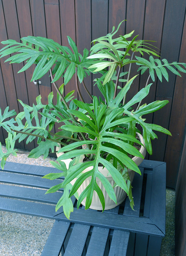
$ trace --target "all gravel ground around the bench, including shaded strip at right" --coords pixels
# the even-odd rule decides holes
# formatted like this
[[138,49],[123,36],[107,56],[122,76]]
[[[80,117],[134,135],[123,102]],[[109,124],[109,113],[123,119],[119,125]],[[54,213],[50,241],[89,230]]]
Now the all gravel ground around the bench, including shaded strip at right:
[[[8,158],[10,162],[42,166],[51,166],[51,160],[55,158],[29,159],[25,154]],[[166,189],[166,235],[160,256],[174,256],[174,212],[175,191]],[[0,256],[41,255],[53,223],[50,219],[0,211]]]

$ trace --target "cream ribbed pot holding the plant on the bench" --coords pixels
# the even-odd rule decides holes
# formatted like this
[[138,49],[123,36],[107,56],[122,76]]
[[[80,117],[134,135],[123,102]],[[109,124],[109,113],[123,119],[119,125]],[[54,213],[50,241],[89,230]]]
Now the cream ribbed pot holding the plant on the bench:
[[[140,139],[141,143],[144,145],[144,140],[143,140],[142,135],[139,134],[139,133],[137,133],[137,135],[139,136],[139,139]],[[145,155],[146,155],[146,148],[143,147],[143,146],[141,146],[141,148],[140,148],[140,153],[145,157]],[[57,156],[59,157],[61,154],[63,154],[63,153],[57,153]],[[65,162],[65,164],[66,164],[66,166],[67,166],[67,168],[68,168],[69,162],[70,162],[71,160],[72,160],[72,159],[66,159],[66,160],[62,160],[62,161]],[[137,156],[134,156],[134,157],[132,158],[132,160],[137,164],[137,166],[139,166],[140,163],[143,161],[142,158],[137,157]],[[83,172],[89,171],[89,170],[91,170],[91,169],[92,169],[91,167],[86,168]],[[108,181],[110,182],[110,184],[113,186],[115,182],[114,182],[112,176],[111,176],[111,175],[108,175],[108,173],[109,173],[108,170],[107,170],[105,167],[104,167],[104,168],[103,168],[103,167],[98,167],[98,170],[107,178],[107,180],[108,180]],[[131,183],[132,183],[132,181],[133,181],[133,179],[134,179],[134,174],[135,174],[135,172],[132,171],[132,170],[130,170],[130,169],[128,169],[128,172],[129,172],[130,180],[131,180]],[[82,183],[82,185],[80,186],[80,188],[77,190],[77,192],[78,192],[79,195],[80,195],[80,194],[83,192],[83,190],[89,185],[90,180],[91,180],[91,177],[88,177],[88,178]],[[74,180],[71,182],[71,184],[73,185],[73,184],[75,183],[75,181],[76,181],[76,179],[74,179]],[[117,199],[117,205],[116,205],[116,204],[114,203],[114,201],[111,200],[110,197],[108,196],[108,194],[107,194],[107,192],[106,192],[106,190],[105,190],[105,188],[104,188],[102,182],[101,182],[98,178],[96,178],[96,181],[97,181],[98,186],[101,188],[101,190],[102,190],[102,192],[103,192],[103,195],[104,195],[104,198],[105,198],[105,210],[112,209],[112,208],[116,207],[117,205],[121,204],[121,203],[125,200],[125,198],[126,198],[126,196],[127,196],[127,193],[126,193],[123,189],[121,189],[119,186],[114,187],[114,192],[115,192],[115,194],[116,194],[116,199]],[[84,205],[84,206],[85,206],[85,201],[86,201],[86,198],[83,199],[83,201],[82,201],[82,203],[81,203],[81,204]],[[101,202],[100,202],[100,200],[99,200],[99,197],[98,197],[98,195],[97,195],[97,193],[96,193],[95,191],[94,191],[94,193],[93,193],[92,203],[91,203],[91,205],[90,205],[89,208],[90,208],[90,209],[93,209],[93,210],[103,210],[103,209],[102,209],[102,204],[101,204]]]

